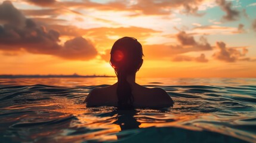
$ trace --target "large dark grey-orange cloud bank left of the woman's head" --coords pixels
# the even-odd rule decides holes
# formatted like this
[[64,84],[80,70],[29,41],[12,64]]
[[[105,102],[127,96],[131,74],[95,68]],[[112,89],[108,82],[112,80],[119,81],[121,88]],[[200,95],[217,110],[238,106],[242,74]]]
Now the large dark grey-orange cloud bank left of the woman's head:
[[[90,41],[82,37],[66,41],[64,46],[59,45],[60,33],[56,30],[46,30],[43,26],[38,26],[33,20],[25,18],[11,2],[4,2],[0,5],[0,21],[5,21],[4,26],[0,26],[0,49],[2,51],[18,51],[24,49],[34,54],[49,54],[70,60],[89,60],[97,51]],[[11,13],[16,17],[17,24]]]

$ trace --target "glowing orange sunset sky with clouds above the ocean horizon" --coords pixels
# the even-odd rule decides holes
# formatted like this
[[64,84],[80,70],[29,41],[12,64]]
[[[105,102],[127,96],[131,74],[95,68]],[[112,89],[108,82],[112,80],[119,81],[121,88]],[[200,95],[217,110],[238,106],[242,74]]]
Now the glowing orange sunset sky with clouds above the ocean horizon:
[[0,0],[0,74],[106,74],[143,45],[139,77],[256,77],[255,0]]

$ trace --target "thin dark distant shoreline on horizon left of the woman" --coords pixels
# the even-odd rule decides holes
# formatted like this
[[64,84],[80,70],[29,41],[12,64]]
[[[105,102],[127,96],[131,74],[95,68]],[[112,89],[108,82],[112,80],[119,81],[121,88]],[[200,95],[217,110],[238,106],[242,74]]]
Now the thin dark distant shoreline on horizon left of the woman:
[[33,74],[33,75],[13,75],[13,74],[1,74],[0,79],[4,78],[61,78],[61,77],[115,77],[115,76],[106,76],[106,75],[87,75],[82,76],[78,74],[72,74],[72,75],[63,75],[63,74],[48,74],[48,75],[40,75],[40,74]]

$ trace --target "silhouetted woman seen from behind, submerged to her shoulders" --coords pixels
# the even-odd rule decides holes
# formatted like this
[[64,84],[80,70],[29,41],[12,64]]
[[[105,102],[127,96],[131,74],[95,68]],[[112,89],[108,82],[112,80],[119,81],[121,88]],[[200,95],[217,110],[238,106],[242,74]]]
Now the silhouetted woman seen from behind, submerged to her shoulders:
[[142,46],[135,38],[118,39],[110,52],[110,64],[118,82],[94,88],[86,98],[87,106],[113,105],[121,109],[134,107],[170,107],[174,102],[161,88],[146,88],[135,83],[135,74],[143,63]]

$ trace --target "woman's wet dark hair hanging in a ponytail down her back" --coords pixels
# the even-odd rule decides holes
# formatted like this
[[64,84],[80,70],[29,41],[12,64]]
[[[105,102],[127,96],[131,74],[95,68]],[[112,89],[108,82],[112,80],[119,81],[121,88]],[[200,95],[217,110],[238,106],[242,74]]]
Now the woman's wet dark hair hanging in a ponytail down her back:
[[124,37],[114,43],[110,54],[110,64],[118,76],[118,107],[133,108],[134,97],[127,75],[135,74],[140,69],[143,61],[142,46],[137,39]]

